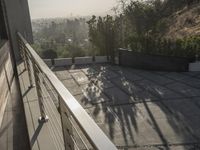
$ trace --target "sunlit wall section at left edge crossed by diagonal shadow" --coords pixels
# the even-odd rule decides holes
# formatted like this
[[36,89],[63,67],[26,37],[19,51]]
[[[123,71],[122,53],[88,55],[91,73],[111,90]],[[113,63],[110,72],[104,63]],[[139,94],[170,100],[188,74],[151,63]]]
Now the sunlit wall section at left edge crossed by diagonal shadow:
[[0,126],[13,78],[14,72],[10,57],[10,46],[8,42],[5,42],[0,47]]

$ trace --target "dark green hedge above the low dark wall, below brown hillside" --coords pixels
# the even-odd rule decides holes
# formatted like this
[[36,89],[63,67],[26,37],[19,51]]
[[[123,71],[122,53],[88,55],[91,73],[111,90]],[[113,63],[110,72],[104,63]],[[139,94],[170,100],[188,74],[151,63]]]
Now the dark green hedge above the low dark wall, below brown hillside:
[[[143,44],[141,44],[143,43]],[[200,55],[200,36],[191,36],[183,39],[154,39],[153,37],[133,37],[131,49],[145,54],[195,57]]]

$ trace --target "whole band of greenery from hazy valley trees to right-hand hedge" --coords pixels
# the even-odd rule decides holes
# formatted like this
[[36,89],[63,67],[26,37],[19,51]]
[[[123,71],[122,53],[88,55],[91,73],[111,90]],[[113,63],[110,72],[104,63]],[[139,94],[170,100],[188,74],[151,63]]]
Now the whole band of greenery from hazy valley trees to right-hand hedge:
[[162,38],[169,17],[195,0],[118,1],[121,9],[114,9],[116,16],[34,22],[34,48],[42,57],[109,55],[113,59],[119,47],[167,56],[200,54],[199,36]]

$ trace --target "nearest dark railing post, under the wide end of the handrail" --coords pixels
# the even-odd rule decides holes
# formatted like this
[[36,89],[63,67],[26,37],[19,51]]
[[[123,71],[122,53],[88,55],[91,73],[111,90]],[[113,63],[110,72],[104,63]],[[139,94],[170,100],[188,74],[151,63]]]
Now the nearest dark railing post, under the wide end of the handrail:
[[60,108],[60,116],[61,116],[61,123],[62,123],[62,130],[63,130],[63,137],[65,143],[65,149],[74,150],[75,143],[73,141],[73,127],[72,122],[70,121],[70,112],[66,108],[63,100],[58,97],[59,100],[59,108]]

